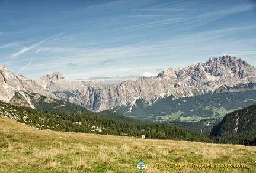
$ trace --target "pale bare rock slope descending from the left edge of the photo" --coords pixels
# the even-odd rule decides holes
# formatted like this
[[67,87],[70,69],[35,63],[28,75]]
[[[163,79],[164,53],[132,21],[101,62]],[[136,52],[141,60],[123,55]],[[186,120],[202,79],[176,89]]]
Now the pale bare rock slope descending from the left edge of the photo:
[[0,100],[20,106],[34,107],[30,93],[56,98],[49,90],[36,84],[34,80],[23,75],[15,76],[11,71],[0,64]]

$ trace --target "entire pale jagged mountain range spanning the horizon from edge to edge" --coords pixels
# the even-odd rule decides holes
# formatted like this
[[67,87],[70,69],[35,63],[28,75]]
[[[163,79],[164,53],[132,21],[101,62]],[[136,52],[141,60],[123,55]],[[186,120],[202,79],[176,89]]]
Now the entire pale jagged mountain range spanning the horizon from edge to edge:
[[[0,100],[4,102],[34,108],[39,106],[39,100],[51,103],[52,99],[60,99],[94,112],[115,109],[126,115],[141,118],[155,117],[156,113],[162,113],[159,116],[178,115],[176,119],[181,116],[194,116],[187,110],[178,110],[179,107],[175,108],[174,105],[184,105],[187,102],[185,107],[188,108],[189,103],[196,103],[194,99],[198,100],[201,96],[207,97],[207,102],[213,100],[215,104],[222,103],[217,100],[220,99],[220,95],[217,95],[219,93],[239,93],[239,96],[247,96],[241,97],[242,100],[239,102],[256,103],[255,94],[250,93],[255,92],[255,89],[256,68],[244,60],[228,55],[210,58],[206,63],[197,63],[183,69],[169,68],[156,77],[141,77],[139,80],[127,80],[121,84],[108,84],[103,81],[69,81],[59,72],[46,74],[39,80],[33,81],[22,75],[15,76],[7,68],[0,66],[2,93]],[[233,97],[235,96],[222,99],[231,102]],[[196,104],[194,106],[200,107]],[[209,109],[209,106],[210,103],[202,110]],[[225,111],[222,115],[246,106],[248,105],[241,104],[241,107],[235,105],[229,109],[224,107]],[[169,110],[167,107],[173,109]],[[215,116],[216,113],[220,115],[223,111],[222,106],[218,109],[217,112],[211,110],[209,115],[206,115],[205,111],[199,115],[200,110],[196,115],[206,117]],[[158,111],[153,113],[155,110]],[[157,119],[159,118],[155,117],[153,120]]]

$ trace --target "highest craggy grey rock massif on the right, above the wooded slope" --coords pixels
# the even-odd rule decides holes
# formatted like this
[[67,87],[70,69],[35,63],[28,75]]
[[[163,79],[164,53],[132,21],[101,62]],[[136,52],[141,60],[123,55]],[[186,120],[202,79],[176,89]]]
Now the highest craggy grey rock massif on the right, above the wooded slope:
[[180,86],[202,86],[210,81],[222,84],[255,82],[256,68],[247,62],[229,55],[210,58],[206,63],[197,63],[188,67],[168,68],[158,74],[171,84]]

